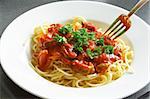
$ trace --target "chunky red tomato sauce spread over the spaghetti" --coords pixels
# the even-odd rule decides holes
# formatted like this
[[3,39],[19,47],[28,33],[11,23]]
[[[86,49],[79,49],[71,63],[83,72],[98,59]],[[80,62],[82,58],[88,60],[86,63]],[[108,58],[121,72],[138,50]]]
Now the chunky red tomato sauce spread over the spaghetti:
[[[116,48],[111,52],[110,49],[104,49],[102,45],[98,45],[96,40],[88,40],[87,45],[85,44],[82,47],[79,47],[81,48],[81,51],[77,51],[75,49],[76,45],[79,43],[79,46],[82,42],[79,42],[80,40],[78,40],[77,43],[74,43],[76,39],[72,38],[74,36],[73,33],[68,32],[65,34],[64,32],[64,34],[61,34],[59,29],[62,27],[63,25],[61,24],[50,25],[50,28],[48,28],[48,34],[44,34],[39,39],[39,42],[43,44],[43,50],[39,52],[38,56],[40,70],[46,71],[49,66],[47,65],[49,57],[55,57],[54,60],[62,61],[76,72],[82,72],[83,74],[91,74],[95,72],[104,73],[108,68],[108,62],[113,63],[122,58],[120,54],[121,50]],[[111,40],[109,37],[102,37],[102,33],[98,32],[97,28],[91,23],[82,23],[82,28],[85,28],[87,33],[95,32],[95,39],[103,38],[104,42],[102,43],[104,43],[103,45],[105,46],[109,45],[114,47],[117,44],[116,41]],[[69,31],[69,29],[70,28],[65,28],[64,31]],[[61,36],[61,39],[55,38],[57,34]],[[63,43],[61,43],[62,41]],[[101,48],[99,52],[96,52],[95,50],[97,47]],[[87,53],[87,49],[91,52]],[[110,57],[109,52],[114,57]]]

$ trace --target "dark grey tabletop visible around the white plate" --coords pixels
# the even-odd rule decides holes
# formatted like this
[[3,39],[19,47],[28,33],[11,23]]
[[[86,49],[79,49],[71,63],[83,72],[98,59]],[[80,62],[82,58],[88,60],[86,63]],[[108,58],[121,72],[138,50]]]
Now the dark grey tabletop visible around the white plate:
[[[0,36],[4,29],[16,17],[22,13],[40,6],[42,4],[51,3],[60,0],[0,0]],[[124,9],[130,10],[139,0],[96,0],[113,4]],[[150,24],[150,2],[140,9],[136,14],[145,22]],[[150,84],[135,94],[126,97],[125,99],[150,99]],[[0,98],[2,99],[20,99],[20,98],[39,98],[22,88],[18,87],[14,82],[8,78],[0,66]]]

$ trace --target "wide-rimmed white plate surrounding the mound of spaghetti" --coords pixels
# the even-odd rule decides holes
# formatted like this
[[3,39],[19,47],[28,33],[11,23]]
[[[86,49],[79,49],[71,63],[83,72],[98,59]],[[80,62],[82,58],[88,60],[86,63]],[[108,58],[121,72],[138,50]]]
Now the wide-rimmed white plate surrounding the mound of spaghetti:
[[112,99],[131,95],[150,81],[149,25],[136,15],[131,17],[132,27],[126,33],[134,49],[134,74],[126,74],[110,84],[95,88],[70,88],[51,83],[30,67],[26,52],[27,41],[38,24],[62,22],[78,15],[111,24],[122,13],[127,14],[128,11],[92,1],[55,2],[34,8],[16,18],[4,31],[0,45],[2,67],[21,88],[42,98]]

